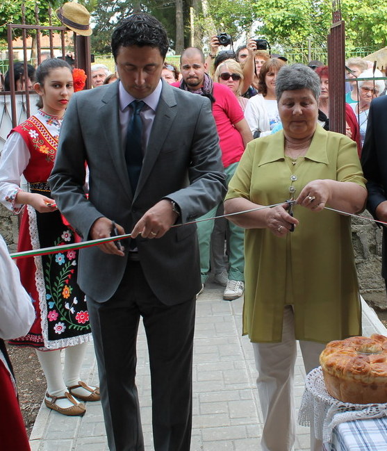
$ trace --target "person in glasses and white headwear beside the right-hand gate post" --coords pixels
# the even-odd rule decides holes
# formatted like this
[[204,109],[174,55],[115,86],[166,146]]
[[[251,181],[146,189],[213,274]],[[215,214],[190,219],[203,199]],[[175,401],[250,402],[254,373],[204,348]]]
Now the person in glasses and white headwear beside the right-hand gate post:
[[367,129],[368,110],[372,99],[379,97],[386,86],[383,80],[372,80],[374,77],[383,76],[379,69],[367,69],[361,72],[359,79],[370,79],[359,81],[359,102],[357,104],[349,104],[355,112],[356,119],[359,122],[361,145],[364,144],[365,130]]

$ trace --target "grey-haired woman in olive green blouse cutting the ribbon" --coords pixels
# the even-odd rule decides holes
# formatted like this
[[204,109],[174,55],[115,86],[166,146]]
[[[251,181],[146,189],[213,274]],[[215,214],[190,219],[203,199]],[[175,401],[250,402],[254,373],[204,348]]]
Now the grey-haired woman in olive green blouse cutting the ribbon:
[[[229,183],[226,213],[245,231],[243,333],[254,346],[265,425],[263,451],[295,442],[296,340],[306,372],[324,344],[361,334],[361,304],[347,213],[363,209],[365,179],[356,144],[317,124],[320,79],[295,64],[280,69],[283,130],[247,145]],[[286,199],[296,199],[294,217]],[[294,228],[294,231],[291,229]],[[314,434],[313,434],[314,435]],[[311,436],[311,450],[321,443]]]

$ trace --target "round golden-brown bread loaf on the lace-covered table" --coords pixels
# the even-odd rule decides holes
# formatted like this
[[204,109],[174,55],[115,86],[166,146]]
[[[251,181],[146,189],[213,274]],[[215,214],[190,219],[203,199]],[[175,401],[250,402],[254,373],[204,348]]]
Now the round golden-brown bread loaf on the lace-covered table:
[[387,402],[387,337],[331,341],[320,354],[329,395],[352,404]]

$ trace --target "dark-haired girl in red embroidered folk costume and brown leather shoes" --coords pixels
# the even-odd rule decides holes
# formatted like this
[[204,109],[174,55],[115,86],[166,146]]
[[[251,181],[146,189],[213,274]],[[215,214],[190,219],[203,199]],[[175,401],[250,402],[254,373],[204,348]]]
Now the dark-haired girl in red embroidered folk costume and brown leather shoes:
[[[11,131],[0,161],[0,202],[15,213],[23,211],[19,251],[74,242],[74,231],[63,222],[47,183],[63,115],[74,92],[72,69],[65,61],[51,58],[38,67],[35,77],[41,109]],[[19,187],[22,174],[28,192]],[[10,341],[36,348],[47,379],[44,402],[65,415],[85,413],[79,400],[99,400],[99,388],[79,377],[91,332],[85,295],[76,284],[77,261],[74,250],[17,260],[36,319],[26,336]]]

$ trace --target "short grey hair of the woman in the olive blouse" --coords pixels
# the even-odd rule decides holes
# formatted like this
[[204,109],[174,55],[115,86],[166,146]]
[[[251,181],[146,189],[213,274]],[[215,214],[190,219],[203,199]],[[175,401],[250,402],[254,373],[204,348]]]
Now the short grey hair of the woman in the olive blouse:
[[311,90],[316,101],[320,98],[320,77],[313,69],[304,64],[285,65],[279,69],[275,81],[275,93],[277,101],[281,99],[283,91],[294,91],[298,89]]

